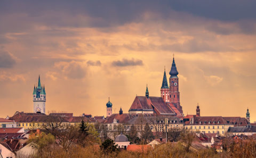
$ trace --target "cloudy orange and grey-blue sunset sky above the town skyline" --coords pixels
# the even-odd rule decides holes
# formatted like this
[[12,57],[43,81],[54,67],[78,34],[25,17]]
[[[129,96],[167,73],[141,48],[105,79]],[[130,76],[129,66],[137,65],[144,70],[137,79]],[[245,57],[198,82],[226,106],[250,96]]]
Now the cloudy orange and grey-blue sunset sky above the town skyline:
[[183,113],[256,121],[255,1],[1,1],[0,117],[46,111],[127,113],[160,96],[173,54]]

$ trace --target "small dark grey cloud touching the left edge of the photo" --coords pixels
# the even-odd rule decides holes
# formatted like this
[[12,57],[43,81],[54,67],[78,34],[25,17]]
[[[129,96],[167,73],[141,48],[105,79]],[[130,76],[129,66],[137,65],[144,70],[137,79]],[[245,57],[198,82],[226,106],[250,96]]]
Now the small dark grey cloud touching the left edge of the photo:
[[0,68],[12,68],[15,63],[10,53],[0,51]]

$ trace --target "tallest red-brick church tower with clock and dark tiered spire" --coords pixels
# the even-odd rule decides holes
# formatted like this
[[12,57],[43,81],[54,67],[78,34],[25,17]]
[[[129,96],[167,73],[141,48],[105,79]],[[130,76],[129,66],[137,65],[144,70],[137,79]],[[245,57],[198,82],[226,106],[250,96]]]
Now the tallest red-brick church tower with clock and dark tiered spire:
[[170,103],[172,103],[181,113],[182,112],[182,107],[180,106],[180,92],[179,92],[179,78],[178,78],[178,70],[176,68],[176,64],[174,62],[174,57],[172,61],[172,68],[171,71],[169,72],[170,79]]

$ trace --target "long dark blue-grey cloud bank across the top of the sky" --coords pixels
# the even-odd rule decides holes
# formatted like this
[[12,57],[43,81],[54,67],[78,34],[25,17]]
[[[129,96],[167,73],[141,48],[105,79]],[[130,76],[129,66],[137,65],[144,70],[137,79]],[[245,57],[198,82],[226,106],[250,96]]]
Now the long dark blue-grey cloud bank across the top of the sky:
[[[42,14],[51,11],[68,13],[71,16],[89,15],[99,18],[94,21],[93,26],[103,27],[113,24],[122,24],[134,20],[145,12],[156,12],[168,18],[171,10],[186,12],[196,16],[224,21],[236,21],[241,19],[256,18],[256,1],[2,1],[0,2],[0,13],[26,13],[35,21],[44,20],[45,22],[58,25],[68,24],[71,19],[41,19]],[[70,24],[70,23],[69,23]],[[75,22],[74,26],[84,26],[86,22]]]

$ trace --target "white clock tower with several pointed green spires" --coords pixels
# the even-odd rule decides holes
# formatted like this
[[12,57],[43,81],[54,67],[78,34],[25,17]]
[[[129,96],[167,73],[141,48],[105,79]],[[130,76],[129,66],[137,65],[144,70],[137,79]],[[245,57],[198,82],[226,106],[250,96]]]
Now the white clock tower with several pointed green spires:
[[45,102],[46,93],[44,86],[41,86],[40,76],[38,78],[38,86],[34,86],[33,91],[33,102],[34,102],[34,113],[44,113],[45,114]]

